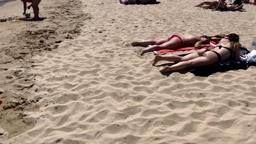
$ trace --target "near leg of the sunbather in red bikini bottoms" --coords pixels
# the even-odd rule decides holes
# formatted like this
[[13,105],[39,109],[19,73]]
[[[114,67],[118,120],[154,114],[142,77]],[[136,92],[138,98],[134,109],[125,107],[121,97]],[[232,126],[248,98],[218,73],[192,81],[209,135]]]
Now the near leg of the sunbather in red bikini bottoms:
[[176,49],[181,46],[182,46],[182,41],[179,38],[172,38],[164,44],[153,45],[144,50],[141,50],[141,56],[146,52],[158,51],[158,50],[171,50],[171,49]]

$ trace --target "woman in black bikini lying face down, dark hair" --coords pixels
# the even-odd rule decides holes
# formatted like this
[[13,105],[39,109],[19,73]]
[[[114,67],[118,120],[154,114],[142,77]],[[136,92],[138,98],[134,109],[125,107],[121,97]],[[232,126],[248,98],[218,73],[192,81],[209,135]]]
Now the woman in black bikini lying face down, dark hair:
[[226,35],[224,39],[219,41],[219,44],[213,49],[201,49],[196,52],[190,53],[187,56],[181,57],[177,55],[157,55],[155,56],[152,65],[155,65],[159,61],[172,61],[171,66],[159,68],[161,72],[184,70],[192,67],[203,67],[219,63],[225,59],[232,59],[235,61],[240,60],[240,48],[239,36],[231,33]]

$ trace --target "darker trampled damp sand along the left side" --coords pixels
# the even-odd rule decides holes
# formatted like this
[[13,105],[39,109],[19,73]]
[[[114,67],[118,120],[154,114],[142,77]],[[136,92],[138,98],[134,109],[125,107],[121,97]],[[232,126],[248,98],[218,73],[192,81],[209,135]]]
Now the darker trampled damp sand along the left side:
[[[82,21],[90,16],[83,14],[79,3],[42,1],[44,21],[0,22],[0,143],[3,137],[10,139],[34,127],[24,111],[38,111],[36,102],[40,98],[34,97],[34,77],[40,74],[27,70],[38,61],[33,56],[46,55],[61,41],[74,39],[81,32]],[[73,7],[67,8],[70,4]],[[7,3],[0,7],[0,19],[20,19],[22,11],[21,1]],[[32,9],[27,12],[32,13]]]

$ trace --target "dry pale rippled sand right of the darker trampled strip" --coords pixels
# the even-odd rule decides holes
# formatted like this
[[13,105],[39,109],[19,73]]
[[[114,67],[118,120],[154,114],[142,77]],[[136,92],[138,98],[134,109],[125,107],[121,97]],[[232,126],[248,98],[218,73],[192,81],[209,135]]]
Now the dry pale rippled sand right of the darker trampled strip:
[[152,52],[139,56],[141,47],[130,43],[237,33],[249,46],[256,7],[220,12],[193,7],[201,0],[82,2],[92,19],[84,21],[79,37],[33,56],[37,63],[27,69],[36,75],[31,97],[40,98],[38,111],[25,112],[35,127],[2,143],[255,143],[255,67],[165,76],[150,65]]

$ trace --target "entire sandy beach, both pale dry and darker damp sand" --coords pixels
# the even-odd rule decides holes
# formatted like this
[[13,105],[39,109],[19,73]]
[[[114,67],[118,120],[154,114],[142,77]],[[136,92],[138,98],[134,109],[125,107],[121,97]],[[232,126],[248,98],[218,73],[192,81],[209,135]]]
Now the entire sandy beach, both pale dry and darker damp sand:
[[[159,2],[42,0],[44,21],[0,22],[0,143],[254,144],[255,67],[162,75],[131,42],[236,33],[249,49],[256,6]],[[0,19],[22,12],[10,2]]]

